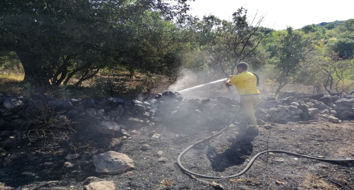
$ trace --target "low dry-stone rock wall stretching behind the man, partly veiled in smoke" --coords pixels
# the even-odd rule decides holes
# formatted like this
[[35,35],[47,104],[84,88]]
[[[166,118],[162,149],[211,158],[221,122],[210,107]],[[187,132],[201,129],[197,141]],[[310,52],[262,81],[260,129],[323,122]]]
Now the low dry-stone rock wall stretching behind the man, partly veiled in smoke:
[[[354,120],[354,96],[300,96],[282,99],[262,98],[255,112],[259,124],[288,121]],[[126,135],[127,130],[164,125],[178,129],[218,130],[233,117],[242,117],[240,103],[226,97],[185,99],[178,92],[166,91],[145,101],[120,98],[69,99],[56,101],[37,96],[0,97],[0,146],[14,134],[33,129],[45,119],[70,120],[102,134]],[[42,120],[35,120],[36,117]]]

